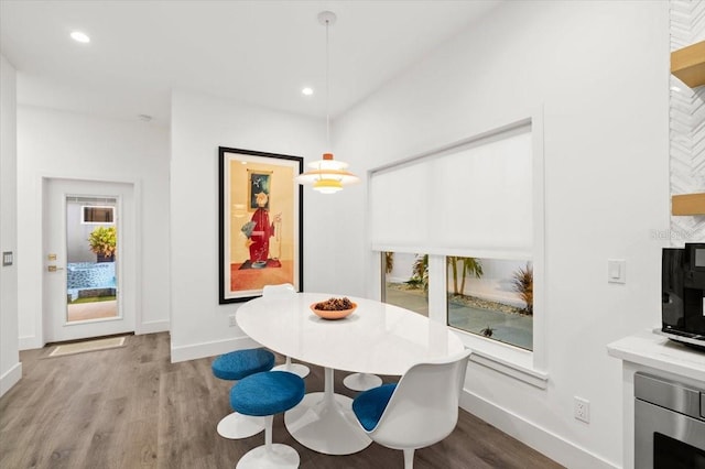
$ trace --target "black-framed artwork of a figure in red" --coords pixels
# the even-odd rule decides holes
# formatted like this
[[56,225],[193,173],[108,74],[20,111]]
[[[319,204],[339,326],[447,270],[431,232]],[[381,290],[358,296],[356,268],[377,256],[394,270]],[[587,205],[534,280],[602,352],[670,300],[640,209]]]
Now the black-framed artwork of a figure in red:
[[264,285],[303,291],[304,160],[218,148],[218,303],[246,302]]

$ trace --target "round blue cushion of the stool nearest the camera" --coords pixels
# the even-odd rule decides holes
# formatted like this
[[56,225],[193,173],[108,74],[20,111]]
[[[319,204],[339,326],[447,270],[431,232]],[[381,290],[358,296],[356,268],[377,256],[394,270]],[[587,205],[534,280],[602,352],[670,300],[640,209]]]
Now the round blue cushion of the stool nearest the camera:
[[243,415],[262,417],[289,411],[304,399],[304,380],[288,371],[250,374],[230,390],[230,406]]

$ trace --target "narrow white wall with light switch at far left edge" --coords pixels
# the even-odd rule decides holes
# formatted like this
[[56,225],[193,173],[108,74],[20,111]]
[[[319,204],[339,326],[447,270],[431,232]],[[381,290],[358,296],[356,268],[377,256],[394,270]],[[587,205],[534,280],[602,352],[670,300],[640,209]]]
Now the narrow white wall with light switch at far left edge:
[[0,396],[22,377],[18,353],[17,73],[0,55],[0,252],[14,254],[0,266]]

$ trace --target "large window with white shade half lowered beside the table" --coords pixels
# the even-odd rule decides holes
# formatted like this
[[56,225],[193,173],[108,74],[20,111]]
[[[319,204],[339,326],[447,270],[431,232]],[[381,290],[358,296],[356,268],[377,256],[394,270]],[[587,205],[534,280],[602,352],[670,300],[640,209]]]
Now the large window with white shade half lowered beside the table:
[[[371,246],[384,269],[383,299],[446,321],[478,362],[540,388],[547,379],[540,371],[542,134],[536,113],[376,168],[368,197]],[[405,288],[413,276],[400,277],[387,262],[390,255],[394,263],[409,262],[401,260],[417,253],[425,253],[427,305],[410,307]]]

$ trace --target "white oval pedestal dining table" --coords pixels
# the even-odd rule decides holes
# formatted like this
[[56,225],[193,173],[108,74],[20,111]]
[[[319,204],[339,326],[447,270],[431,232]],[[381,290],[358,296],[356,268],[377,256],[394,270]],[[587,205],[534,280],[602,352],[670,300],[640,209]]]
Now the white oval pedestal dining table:
[[334,392],[334,370],[402,375],[414,363],[458,353],[464,346],[445,324],[373,299],[348,296],[357,309],[344,319],[322,319],[311,310],[312,304],[333,296],[259,297],[240,306],[236,320],[264,347],[324,368],[324,391],[307,393],[284,414],[284,423],[307,448],[350,455],[371,439],[352,414],[352,400]]

